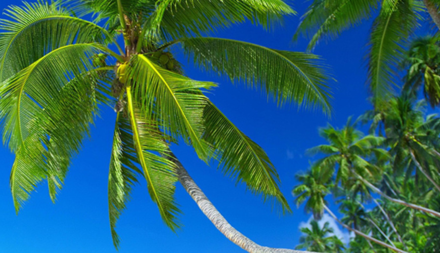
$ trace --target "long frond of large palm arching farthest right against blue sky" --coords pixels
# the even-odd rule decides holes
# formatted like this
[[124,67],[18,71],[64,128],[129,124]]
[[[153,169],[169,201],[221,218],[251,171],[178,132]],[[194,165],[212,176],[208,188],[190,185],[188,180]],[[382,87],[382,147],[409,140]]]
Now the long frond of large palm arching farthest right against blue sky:
[[286,102],[330,113],[326,67],[316,55],[269,49],[222,38],[180,40],[185,53],[204,70],[243,80],[279,105]]

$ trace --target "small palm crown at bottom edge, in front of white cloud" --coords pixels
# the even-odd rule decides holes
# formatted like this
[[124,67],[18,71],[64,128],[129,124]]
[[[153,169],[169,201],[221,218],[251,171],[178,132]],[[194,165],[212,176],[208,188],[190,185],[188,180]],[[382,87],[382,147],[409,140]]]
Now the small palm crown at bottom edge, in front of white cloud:
[[342,241],[333,233],[328,222],[321,228],[316,220],[310,222],[311,228],[304,227],[300,231],[303,233],[299,238],[301,244],[296,249],[305,248],[314,252],[342,252],[345,248]]

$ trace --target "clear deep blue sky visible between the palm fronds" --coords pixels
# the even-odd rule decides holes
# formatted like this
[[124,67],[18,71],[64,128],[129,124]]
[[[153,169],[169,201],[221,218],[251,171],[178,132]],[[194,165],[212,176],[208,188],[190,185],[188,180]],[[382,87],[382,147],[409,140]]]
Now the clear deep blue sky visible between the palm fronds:
[[[309,3],[295,1],[299,14]],[[6,0],[0,9],[20,1]],[[261,27],[242,24],[219,32],[218,37],[234,38],[262,46],[303,51],[306,40],[292,44],[291,38],[299,16],[286,19],[284,27],[268,33]],[[192,148],[173,147],[188,172],[225,218],[255,242],[272,247],[293,248],[298,244],[298,225],[310,218],[303,206],[296,208],[290,191],[297,182],[294,175],[305,171],[313,157],[304,155],[307,148],[323,143],[318,128],[329,121],[342,126],[348,116],[370,108],[367,102],[366,68],[363,61],[370,22],[344,32],[336,41],[321,43],[316,54],[332,66],[337,83],[332,83],[334,114],[331,119],[320,112],[277,108],[264,95],[243,86],[232,85],[223,78],[200,73],[185,59],[185,72],[194,79],[219,83],[210,99],[250,138],[269,154],[282,181],[282,191],[293,214],[279,217],[259,197],[246,192],[244,186],[225,178],[216,167],[198,160]],[[23,41],[26,45],[26,41]],[[112,245],[107,203],[107,179],[115,113],[104,108],[96,120],[92,138],[84,142],[74,159],[66,184],[56,204],[49,198],[47,185],[32,194],[18,216],[9,189],[9,174],[14,156],[0,149],[0,252],[116,252]],[[142,180],[141,180],[142,181]],[[177,234],[161,221],[151,201],[146,184],[138,185],[128,208],[118,222],[121,237],[119,252],[244,252],[219,233],[201,213],[195,202],[178,185],[176,198],[184,215],[184,227]]]

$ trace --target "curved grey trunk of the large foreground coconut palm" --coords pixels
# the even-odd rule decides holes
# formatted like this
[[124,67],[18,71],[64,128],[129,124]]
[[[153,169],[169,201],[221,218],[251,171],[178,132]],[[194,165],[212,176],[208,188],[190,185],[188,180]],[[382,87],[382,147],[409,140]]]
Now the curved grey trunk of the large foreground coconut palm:
[[182,163],[172,152],[169,152],[166,157],[177,164],[177,175],[180,183],[188,194],[190,194],[191,198],[197,203],[203,214],[212,222],[212,224],[214,224],[218,231],[244,250],[251,253],[312,253],[309,251],[299,251],[293,249],[270,248],[256,244],[228,223],[228,221],[222,216],[222,214],[218,212],[211,201],[209,201],[206,195],[197,186],[197,184],[185,170]]

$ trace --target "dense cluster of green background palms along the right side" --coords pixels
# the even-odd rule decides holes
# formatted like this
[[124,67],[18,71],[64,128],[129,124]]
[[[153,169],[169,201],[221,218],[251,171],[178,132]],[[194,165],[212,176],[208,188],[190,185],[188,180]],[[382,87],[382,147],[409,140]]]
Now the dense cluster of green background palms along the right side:
[[[327,197],[333,195],[338,222],[356,234],[345,252],[427,253],[440,248],[440,117],[428,114],[427,103],[417,100],[423,83],[425,96],[426,87],[435,85],[427,75],[436,75],[437,50],[435,37],[415,39],[403,59],[407,75],[401,95],[382,101],[354,123],[348,119],[341,129],[322,128],[327,143],[308,150],[319,159],[297,176],[300,184],[292,193],[317,220],[325,210],[333,216]],[[436,105],[432,94],[427,97]],[[327,235],[314,236],[309,240],[321,243]],[[312,245],[301,244],[309,250],[316,248]]]

